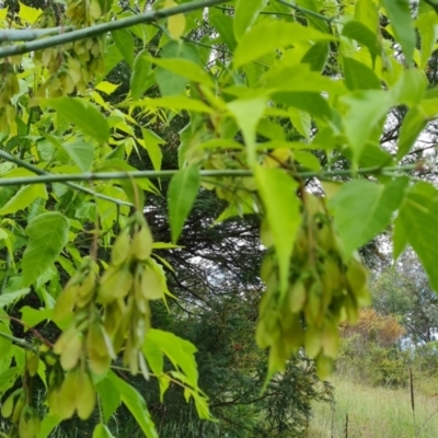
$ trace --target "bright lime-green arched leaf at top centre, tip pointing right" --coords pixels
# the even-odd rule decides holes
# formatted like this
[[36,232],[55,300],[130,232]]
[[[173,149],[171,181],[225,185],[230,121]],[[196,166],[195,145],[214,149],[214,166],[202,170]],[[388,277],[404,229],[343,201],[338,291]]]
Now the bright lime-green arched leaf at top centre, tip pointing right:
[[246,32],[240,39],[234,51],[234,68],[239,68],[276,49],[299,42],[312,41],[316,43],[335,39],[331,34],[324,34],[315,28],[302,26],[298,23],[287,23],[277,20],[263,21]]

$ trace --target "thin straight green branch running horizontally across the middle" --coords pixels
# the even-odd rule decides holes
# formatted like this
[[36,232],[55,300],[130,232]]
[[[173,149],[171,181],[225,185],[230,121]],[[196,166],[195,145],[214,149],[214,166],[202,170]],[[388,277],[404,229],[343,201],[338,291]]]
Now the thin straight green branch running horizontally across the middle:
[[[394,176],[396,172],[405,173],[412,171],[420,171],[423,173],[428,173],[425,168],[419,168],[418,164],[408,164],[403,166],[373,166],[364,168],[358,170],[339,170],[339,171],[303,171],[296,172],[292,176],[301,178],[318,177],[321,180],[333,178],[335,176],[355,176],[355,175],[381,175],[390,172]],[[175,175],[178,171],[134,171],[134,172],[84,172],[84,173],[73,173],[73,174],[44,174],[39,176],[20,176],[12,178],[0,178],[0,186],[11,186],[11,185],[25,185],[25,184],[48,184],[48,183],[66,183],[72,181],[110,181],[110,180],[168,180]],[[243,177],[252,176],[253,172],[250,170],[216,170],[216,171],[200,171],[200,177]],[[84,187],[81,187],[84,188]],[[97,194],[99,195],[99,194]]]

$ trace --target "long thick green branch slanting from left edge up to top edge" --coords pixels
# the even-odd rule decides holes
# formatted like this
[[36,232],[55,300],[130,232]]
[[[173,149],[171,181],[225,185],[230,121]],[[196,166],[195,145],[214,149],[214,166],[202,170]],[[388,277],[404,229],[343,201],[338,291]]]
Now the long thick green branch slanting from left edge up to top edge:
[[66,43],[72,43],[79,39],[90,38],[92,36],[102,35],[107,32],[119,28],[130,27],[136,24],[150,24],[161,19],[177,15],[186,12],[196,11],[216,4],[226,3],[228,0],[204,0],[191,1],[182,3],[177,7],[161,9],[158,11],[148,11],[138,15],[128,16],[126,19],[110,21],[107,23],[95,24],[91,27],[79,28],[61,35],[49,36],[44,39],[34,41],[27,44],[16,44],[13,46],[0,48],[0,58],[13,55],[28,54],[34,50],[42,50],[47,47],[56,47]]

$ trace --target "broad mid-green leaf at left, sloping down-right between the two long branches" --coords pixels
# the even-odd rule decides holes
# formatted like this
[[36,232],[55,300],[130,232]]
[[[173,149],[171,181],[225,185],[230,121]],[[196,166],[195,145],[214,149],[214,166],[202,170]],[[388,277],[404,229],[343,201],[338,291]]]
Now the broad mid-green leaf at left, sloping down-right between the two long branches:
[[110,126],[97,107],[90,102],[73,97],[46,99],[45,102],[83,134],[101,143],[108,139]]

